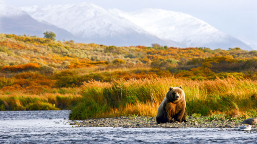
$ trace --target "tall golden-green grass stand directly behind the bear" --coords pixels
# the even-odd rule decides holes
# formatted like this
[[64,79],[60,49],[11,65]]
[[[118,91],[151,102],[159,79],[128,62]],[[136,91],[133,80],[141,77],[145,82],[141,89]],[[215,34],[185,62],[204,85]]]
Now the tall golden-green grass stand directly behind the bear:
[[131,114],[156,116],[170,86],[183,86],[187,113],[231,116],[254,115],[257,106],[257,81],[234,77],[215,80],[184,80],[170,77],[89,81],[82,86],[82,98],[73,105],[70,119],[86,119]]

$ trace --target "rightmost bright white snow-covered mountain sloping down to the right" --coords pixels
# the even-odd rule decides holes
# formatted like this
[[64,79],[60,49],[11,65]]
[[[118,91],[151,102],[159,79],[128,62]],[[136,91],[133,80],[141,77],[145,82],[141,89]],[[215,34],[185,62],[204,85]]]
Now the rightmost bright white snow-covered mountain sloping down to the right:
[[162,39],[173,40],[186,47],[209,47],[212,49],[240,47],[252,50],[240,40],[185,13],[162,9],[142,9],[130,13],[113,9],[109,12],[130,20]]

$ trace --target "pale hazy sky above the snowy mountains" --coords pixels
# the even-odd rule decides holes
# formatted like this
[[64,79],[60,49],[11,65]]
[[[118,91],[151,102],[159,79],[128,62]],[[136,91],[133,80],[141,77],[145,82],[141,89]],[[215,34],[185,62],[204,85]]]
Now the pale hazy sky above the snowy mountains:
[[179,11],[204,20],[236,38],[255,40],[257,44],[257,0],[4,0],[4,2],[19,7],[88,2],[106,10],[117,8],[126,12],[142,8]]

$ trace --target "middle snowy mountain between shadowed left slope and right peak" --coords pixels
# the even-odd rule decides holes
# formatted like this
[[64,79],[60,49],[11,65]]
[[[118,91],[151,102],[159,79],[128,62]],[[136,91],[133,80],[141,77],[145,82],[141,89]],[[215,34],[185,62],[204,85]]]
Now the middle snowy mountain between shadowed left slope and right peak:
[[23,7],[23,10],[40,22],[63,28],[87,43],[116,46],[160,43],[179,47],[172,40],[162,40],[130,20],[90,3]]

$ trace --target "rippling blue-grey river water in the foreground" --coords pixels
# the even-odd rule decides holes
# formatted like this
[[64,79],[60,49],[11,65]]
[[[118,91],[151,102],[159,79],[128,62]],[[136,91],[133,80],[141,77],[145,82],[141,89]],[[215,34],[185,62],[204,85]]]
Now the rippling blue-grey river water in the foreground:
[[[257,133],[70,126],[69,111],[0,111],[0,143],[257,143]],[[49,119],[52,118],[52,119]]]

